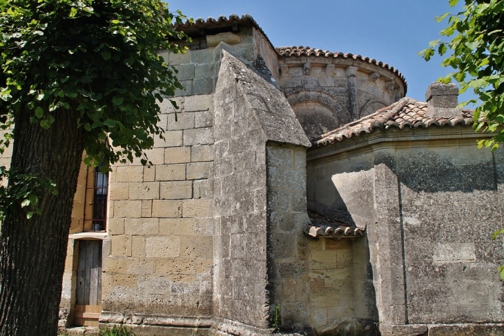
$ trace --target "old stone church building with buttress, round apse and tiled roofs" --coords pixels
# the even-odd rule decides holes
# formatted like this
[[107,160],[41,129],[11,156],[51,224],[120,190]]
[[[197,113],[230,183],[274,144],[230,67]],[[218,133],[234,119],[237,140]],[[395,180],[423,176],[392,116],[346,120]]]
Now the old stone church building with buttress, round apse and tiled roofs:
[[153,166],[81,169],[61,327],[504,335],[504,152],[456,86],[409,99],[388,64],[275,48],[246,15],[179,28]]

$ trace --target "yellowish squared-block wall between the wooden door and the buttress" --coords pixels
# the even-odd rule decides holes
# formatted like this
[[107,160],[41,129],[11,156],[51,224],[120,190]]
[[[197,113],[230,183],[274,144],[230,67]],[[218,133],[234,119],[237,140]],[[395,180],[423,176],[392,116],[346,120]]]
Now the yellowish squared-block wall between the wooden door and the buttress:
[[212,315],[213,232],[200,228],[213,223],[211,194],[202,191],[213,178],[213,120],[205,114],[213,114],[213,95],[177,98],[176,122],[171,103],[161,104],[168,133],[156,140],[155,165],[118,165],[110,176],[103,322],[139,312],[143,319]]

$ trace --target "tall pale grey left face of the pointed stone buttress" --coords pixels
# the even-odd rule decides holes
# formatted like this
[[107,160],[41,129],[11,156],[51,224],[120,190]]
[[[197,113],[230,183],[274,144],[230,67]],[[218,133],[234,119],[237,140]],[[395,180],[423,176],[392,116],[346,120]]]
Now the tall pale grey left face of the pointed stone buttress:
[[234,77],[223,60],[215,93],[215,315],[268,328],[266,140]]

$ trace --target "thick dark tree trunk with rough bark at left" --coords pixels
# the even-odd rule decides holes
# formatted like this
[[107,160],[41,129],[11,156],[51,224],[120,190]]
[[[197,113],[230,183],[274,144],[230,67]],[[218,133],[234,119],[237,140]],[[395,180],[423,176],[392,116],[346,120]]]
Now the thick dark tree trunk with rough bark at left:
[[[31,111],[30,111],[31,112]],[[57,184],[43,192],[41,216],[9,213],[0,230],[0,335],[57,335],[72,203],[84,149],[76,111],[58,111],[45,130],[30,123],[32,113],[14,120],[11,167],[37,173]]]

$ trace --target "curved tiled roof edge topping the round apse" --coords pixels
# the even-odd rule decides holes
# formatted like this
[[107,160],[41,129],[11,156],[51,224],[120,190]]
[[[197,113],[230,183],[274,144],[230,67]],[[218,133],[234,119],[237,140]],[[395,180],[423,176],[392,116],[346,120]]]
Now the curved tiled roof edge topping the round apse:
[[400,73],[394,66],[389,66],[387,63],[383,63],[380,61],[377,61],[374,58],[369,58],[361,55],[353,55],[350,53],[338,53],[338,52],[331,52],[329,50],[322,50],[322,49],[315,49],[315,48],[310,48],[310,47],[304,47],[304,46],[284,46],[280,48],[276,48],[276,51],[278,55],[280,56],[317,56],[317,57],[343,57],[343,58],[352,58],[352,59],[359,59],[364,62],[368,62],[371,64],[376,64],[377,66],[381,66],[382,68],[386,68],[389,71],[392,71],[398,77],[400,80],[403,81],[405,84],[405,91],[407,91],[407,82],[405,80],[405,77],[403,76],[402,73]]

